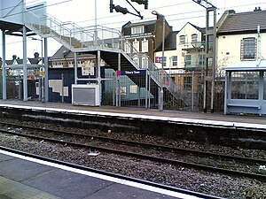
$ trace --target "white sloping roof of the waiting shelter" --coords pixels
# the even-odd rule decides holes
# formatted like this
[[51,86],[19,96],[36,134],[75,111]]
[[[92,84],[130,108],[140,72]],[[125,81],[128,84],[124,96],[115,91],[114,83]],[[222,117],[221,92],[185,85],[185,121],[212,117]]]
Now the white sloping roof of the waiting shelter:
[[224,68],[225,71],[266,71],[266,60],[242,61]]

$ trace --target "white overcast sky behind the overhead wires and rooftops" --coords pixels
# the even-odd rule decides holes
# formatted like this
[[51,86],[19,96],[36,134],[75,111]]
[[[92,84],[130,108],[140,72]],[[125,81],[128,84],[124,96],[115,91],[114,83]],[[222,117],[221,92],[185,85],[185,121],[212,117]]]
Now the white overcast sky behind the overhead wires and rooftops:
[[[6,0],[8,1],[8,0]],[[42,3],[42,0],[25,0],[27,5]],[[129,0],[129,2],[131,2]],[[137,11],[144,16],[143,21],[156,19],[152,11],[158,11],[165,16],[168,24],[173,30],[180,30],[186,22],[191,22],[198,27],[205,27],[206,10],[200,4],[192,0],[149,0],[148,10],[144,5],[132,3]],[[266,10],[265,0],[208,0],[217,7],[217,19],[226,10],[237,12],[254,11],[255,7]],[[121,26],[131,22],[139,22],[137,16],[113,11],[110,13],[110,0],[47,0],[47,13],[60,21],[73,21],[82,27],[90,27],[95,24],[112,27],[121,30]],[[127,7],[129,11],[136,13],[126,0],[113,0],[114,5]],[[97,9],[95,9],[97,8]],[[38,38],[38,37],[36,37]],[[2,43],[0,42],[0,57],[2,57]],[[53,39],[48,40],[48,55],[52,56],[61,44]],[[27,40],[27,57],[33,57],[35,51],[41,54],[41,42],[38,40]],[[23,57],[22,39],[14,36],[6,38],[6,59],[12,59],[12,55]]]

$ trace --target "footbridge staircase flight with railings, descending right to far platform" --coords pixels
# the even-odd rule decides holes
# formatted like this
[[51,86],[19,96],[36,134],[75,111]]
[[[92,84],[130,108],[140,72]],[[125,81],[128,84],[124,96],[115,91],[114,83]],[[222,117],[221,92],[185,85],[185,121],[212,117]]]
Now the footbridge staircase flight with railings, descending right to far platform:
[[[176,88],[175,82],[169,77],[168,73],[160,70],[145,54],[135,50],[120,31],[102,26],[79,27],[73,22],[61,22],[50,15],[37,16],[32,11],[25,11],[24,19],[29,30],[43,38],[51,37],[55,39],[68,50],[77,53],[90,52],[95,55],[100,51],[100,57],[115,71],[146,69],[152,86],[163,88],[165,100],[168,100],[166,96],[178,98],[176,96],[176,89],[178,88]],[[145,57],[145,65],[137,65],[133,57],[138,57],[140,60]],[[134,81],[134,77],[129,78]],[[145,80],[142,82],[145,82]],[[145,83],[139,85],[138,82],[137,86],[145,88]],[[158,96],[159,90],[153,89],[152,95]]]

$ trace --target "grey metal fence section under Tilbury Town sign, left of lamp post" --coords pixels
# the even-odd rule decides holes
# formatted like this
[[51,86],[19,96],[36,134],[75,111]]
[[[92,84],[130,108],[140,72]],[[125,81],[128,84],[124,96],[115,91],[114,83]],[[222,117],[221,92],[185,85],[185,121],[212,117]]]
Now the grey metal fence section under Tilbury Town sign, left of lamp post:
[[148,74],[117,75],[107,69],[102,83],[102,104],[156,108],[158,106],[158,87],[153,86]]

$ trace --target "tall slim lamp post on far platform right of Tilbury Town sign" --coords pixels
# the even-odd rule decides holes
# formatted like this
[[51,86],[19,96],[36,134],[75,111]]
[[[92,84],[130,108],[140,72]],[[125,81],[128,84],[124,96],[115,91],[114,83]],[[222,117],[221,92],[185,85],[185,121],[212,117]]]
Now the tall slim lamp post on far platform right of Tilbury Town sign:
[[160,74],[160,96],[159,96],[159,111],[163,111],[163,86],[164,86],[164,40],[165,40],[165,16],[158,11],[152,11],[157,18],[162,18],[162,35],[161,35],[161,74]]

